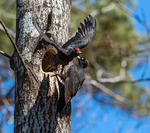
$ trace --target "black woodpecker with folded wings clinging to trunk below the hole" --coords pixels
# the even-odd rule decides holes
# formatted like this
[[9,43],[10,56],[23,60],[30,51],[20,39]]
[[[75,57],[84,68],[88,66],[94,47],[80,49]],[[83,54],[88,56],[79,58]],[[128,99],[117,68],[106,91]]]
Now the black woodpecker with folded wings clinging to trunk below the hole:
[[84,69],[89,65],[89,61],[86,58],[80,58],[78,56],[78,62],[79,65],[71,65],[66,73],[64,93],[65,104],[76,95],[85,80]]

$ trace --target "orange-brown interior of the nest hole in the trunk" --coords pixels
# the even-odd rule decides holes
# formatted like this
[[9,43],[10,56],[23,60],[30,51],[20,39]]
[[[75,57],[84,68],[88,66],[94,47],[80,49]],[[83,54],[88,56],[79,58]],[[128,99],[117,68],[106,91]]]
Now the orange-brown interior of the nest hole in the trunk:
[[53,72],[56,69],[56,66],[51,66],[51,56],[55,55],[56,52],[53,49],[49,49],[43,56],[42,59],[42,70],[44,72]]

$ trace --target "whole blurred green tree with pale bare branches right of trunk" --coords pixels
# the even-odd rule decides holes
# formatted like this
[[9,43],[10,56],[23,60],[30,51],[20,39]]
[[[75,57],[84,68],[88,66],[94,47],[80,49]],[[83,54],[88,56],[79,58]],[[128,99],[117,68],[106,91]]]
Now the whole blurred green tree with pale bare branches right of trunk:
[[[122,6],[124,4],[134,5],[132,1],[118,2]],[[139,100],[142,99],[143,95],[149,97],[146,95],[147,91],[145,88],[132,83],[132,78],[127,72],[137,58],[141,60],[144,58],[138,54],[140,53],[138,44],[144,40],[143,36],[139,37],[136,34],[128,14],[116,2],[107,0],[91,3],[89,0],[82,1],[82,4],[84,5],[82,8],[77,5],[72,7],[72,23],[76,22],[75,20],[80,20],[87,13],[95,16],[97,20],[96,36],[83,52],[85,53],[83,56],[90,60],[88,73],[95,80],[92,85],[101,88],[96,89],[93,95],[97,95],[98,92],[101,93],[102,88],[104,90],[109,88],[115,94],[122,96],[118,99],[118,95],[110,94],[109,91],[108,95],[113,97],[109,104],[119,105],[130,114],[135,115],[135,109],[136,115],[148,114],[148,101],[144,105],[141,103],[142,100]],[[82,14],[77,15],[79,12]],[[72,27],[76,29],[76,24]],[[99,101],[99,99],[97,100]],[[104,102],[103,100],[102,102]]]

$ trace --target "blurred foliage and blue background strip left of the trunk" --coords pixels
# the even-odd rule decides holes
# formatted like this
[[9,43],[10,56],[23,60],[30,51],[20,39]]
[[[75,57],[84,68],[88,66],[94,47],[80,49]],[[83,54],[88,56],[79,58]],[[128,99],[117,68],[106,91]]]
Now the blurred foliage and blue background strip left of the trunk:
[[[0,18],[15,37],[16,2],[15,0],[0,1]],[[0,50],[11,55],[13,47],[0,25]],[[14,113],[14,74],[9,67],[8,59],[0,55],[0,132],[5,123],[13,122]],[[13,129],[12,129],[13,131]]]

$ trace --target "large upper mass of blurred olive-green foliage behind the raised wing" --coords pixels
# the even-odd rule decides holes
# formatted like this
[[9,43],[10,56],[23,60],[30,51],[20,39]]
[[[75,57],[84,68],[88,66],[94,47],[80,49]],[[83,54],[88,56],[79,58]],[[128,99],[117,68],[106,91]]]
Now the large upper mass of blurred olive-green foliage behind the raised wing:
[[[76,23],[79,24],[78,20],[83,20],[88,13],[93,10],[100,10],[103,6],[108,6],[109,4],[104,1],[98,1],[94,5],[89,4],[86,13],[82,13],[82,9],[72,7],[72,31],[75,32],[74,29],[79,26],[76,25]],[[86,54],[83,56],[90,60],[91,67],[95,69],[97,68],[94,64],[98,63],[100,64],[99,67],[103,67],[110,72],[118,72],[120,61],[124,58],[123,54],[129,54],[136,48],[137,35],[133,29],[133,24],[128,15],[118,8],[114,8],[112,11],[98,15],[95,18],[97,21],[96,35],[91,44],[84,49]],[[92,60],[93,57],[94,60]],[[115,65],[112,66],[112,63]]]

